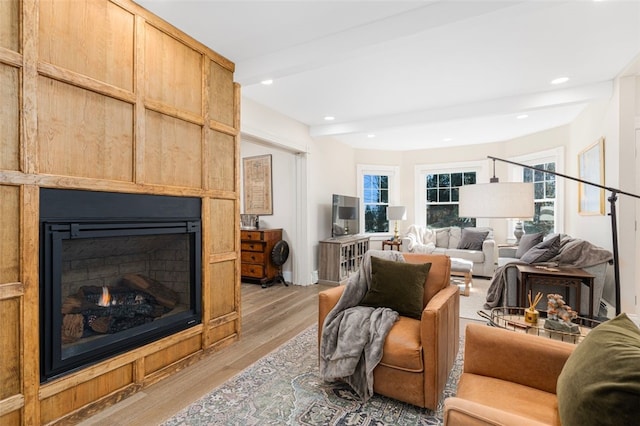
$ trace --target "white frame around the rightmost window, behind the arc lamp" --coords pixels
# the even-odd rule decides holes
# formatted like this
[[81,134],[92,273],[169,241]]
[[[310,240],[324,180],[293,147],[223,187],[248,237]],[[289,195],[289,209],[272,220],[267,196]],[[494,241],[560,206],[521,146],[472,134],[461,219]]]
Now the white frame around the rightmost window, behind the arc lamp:
[[[552,148],[544,151],[533,152],[526,155],[520,155],[517,157],[509,158],[516,163],[526,164],[529,166],[535,166],[541,163],[555,163],[556,173],[564,174],[564,147]],[[509,164],[507,169],[507,175],[510,176],[512,182],[522,182],[523,167]],[[554,201],[553,212],[553,233],[564,232],[564,181],[562,178],[556,176],[556,196]],[[517,220],[509,219],[507,221],[507,241],[515,242],[513,231],[515,229]]]

